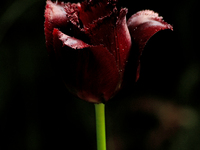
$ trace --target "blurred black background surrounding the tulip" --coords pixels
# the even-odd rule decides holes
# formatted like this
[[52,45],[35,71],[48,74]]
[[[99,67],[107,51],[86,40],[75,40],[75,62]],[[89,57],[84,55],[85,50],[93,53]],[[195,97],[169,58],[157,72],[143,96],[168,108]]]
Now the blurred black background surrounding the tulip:
[[[71,1],[77,2],[77,1]],[[119,0],[172,24],[151,38],[141,76],[106,104],[109,150],[200,148],[199,1]],[[0,149],[96,149],[94,106],[74,98],[52,70],[45,0],[0,5]]]

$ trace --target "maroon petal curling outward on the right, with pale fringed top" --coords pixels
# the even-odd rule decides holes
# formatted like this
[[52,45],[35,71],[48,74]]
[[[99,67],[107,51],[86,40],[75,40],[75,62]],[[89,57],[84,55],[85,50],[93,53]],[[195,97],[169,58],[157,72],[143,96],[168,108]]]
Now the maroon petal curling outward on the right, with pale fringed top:
[[151,10],[144,10],[132,15],[127,22],[131,37],[139,47],[136,81],[139,78],[140,56],[147,41],[160,30],[173,30],[173,27],[162,19],[157,13]]

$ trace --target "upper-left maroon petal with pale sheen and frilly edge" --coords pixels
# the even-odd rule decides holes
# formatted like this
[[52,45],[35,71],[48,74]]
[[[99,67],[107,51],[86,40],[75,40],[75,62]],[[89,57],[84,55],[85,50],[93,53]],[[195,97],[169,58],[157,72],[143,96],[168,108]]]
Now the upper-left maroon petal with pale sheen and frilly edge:
[[45,9],[45,37],[47,50],[53,50],[54,28],[65,28],[70,30],[70,24],[78,24],[78,4],[51,2],[47,0]]

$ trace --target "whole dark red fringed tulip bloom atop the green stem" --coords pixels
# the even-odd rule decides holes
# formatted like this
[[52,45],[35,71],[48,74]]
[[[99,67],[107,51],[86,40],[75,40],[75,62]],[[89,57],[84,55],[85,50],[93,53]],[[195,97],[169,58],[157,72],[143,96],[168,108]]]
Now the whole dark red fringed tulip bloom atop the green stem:
[[108,101],[121,88],[132,44],[138,45],[138,79],[146,42],[160,30],[172,30],[153,11],[140,11],[128,21],[127,12],[118,8],[117,0],[47,1],[47,50],[66,87],[79,98],[93,103]]

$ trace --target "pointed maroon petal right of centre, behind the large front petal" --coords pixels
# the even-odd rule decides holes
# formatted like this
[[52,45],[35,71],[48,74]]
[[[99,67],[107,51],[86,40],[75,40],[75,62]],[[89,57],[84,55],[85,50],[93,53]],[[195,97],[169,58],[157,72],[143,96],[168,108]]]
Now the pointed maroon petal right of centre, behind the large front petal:
[[93,45],[103,45],[115,57],[119,71],[124,71],[131,37],[126,23],[127,9],[121,9],[119,13],[98,19],[90,24],[86,31],[91,37]]

